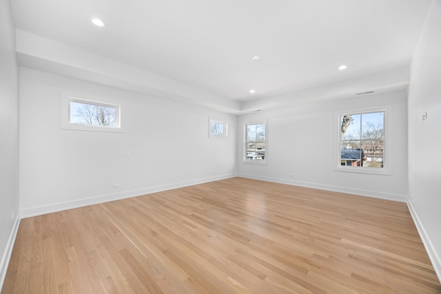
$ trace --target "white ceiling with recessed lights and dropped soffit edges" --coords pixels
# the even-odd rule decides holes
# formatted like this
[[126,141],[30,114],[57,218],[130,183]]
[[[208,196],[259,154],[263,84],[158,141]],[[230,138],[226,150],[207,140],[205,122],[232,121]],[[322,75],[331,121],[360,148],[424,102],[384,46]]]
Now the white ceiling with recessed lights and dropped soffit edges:
[[[430,3],[11,0],[21,65],[229,112],[309,89],[338,96],[384,89],[388,78],[404,85]],[[349,86],[378,73],[375,83]]]

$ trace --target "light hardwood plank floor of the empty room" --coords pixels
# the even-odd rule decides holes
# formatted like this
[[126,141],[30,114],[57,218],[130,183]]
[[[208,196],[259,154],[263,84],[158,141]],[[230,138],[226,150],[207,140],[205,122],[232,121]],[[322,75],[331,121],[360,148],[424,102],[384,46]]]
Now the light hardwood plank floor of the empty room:
[[231,178],[21,220],[1,293],[441,293],[407,205]]

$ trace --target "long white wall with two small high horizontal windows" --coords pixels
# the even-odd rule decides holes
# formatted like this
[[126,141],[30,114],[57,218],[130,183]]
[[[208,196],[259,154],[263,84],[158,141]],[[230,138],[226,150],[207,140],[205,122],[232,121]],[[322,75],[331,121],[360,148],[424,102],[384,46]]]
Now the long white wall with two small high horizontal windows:
[[[125,132],[61,129],[66,90],[122,103]],[[23,67],[20,91],[23,216],[236,175],[232,114]],[[208,138],[209,117],[229,124],[227,139]]]

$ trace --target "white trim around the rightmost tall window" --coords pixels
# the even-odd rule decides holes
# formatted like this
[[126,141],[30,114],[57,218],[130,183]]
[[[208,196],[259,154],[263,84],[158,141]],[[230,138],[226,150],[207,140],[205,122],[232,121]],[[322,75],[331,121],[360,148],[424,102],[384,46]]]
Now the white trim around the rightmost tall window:
[[[369,167],[350,167],[350,166],[342,166],[340,161],[341,156],[341,121],[340,116],[344,116],[346,114],[363,114],[369,112],[384,112],[384,162],[385,167],[383,169],[378,168],[369,168]],[[392,158],[391,158],[391,150],[392,150],[392,140],[391,140],[391,124],[392,124],[392,107],[391,105],[382,105],[378,107],[364,107],[358,109],[347,109],[340,112],[335,112],[334,114],[336,118],[336,123],[334,125],[334,171],[343,171],[350,173],[359,173],[359,174],[376,174],[376,175],[387,175],[391,176],[392,174]]]

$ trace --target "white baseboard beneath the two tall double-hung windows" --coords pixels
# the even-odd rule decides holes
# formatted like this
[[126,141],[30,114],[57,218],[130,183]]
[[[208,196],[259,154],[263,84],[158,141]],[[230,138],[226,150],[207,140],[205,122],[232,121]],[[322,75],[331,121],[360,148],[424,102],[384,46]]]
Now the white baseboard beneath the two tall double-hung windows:
[[349,194],[354,194],[354,195],[358,195],[358,196],[367,196],[367,197],[373,197],[373,198],[380,198],[380,199],[384,199],[384,200],[393,200],[393,201],[398,201],[398,202],[407,202],[407,195],[400,195],[400,194],[394,194],[394,193],[384,193],[384,192],[380,192],[380,191],[372,191],[372,190],[364,190],[364,189],[353,189],[353,188],[333,186],[333,185],[322,185],[322,184],[318,184],[316,182],[300,182],[298,180],[287,180],[287,179],[283,179],[283,178],[270,178],[270,177],[265,177],[265,176],[255,176],[255,175],[251,175],[251,174],[238,174],[238,176],[243,177],[243,178],[251,178],[254,180],[265,180],[267,182],[278,182],[280,184],[285,184],[285,185],[293,185],[293,186],[334,191],[334,192],[340,192],[340,193],[349,193]]

